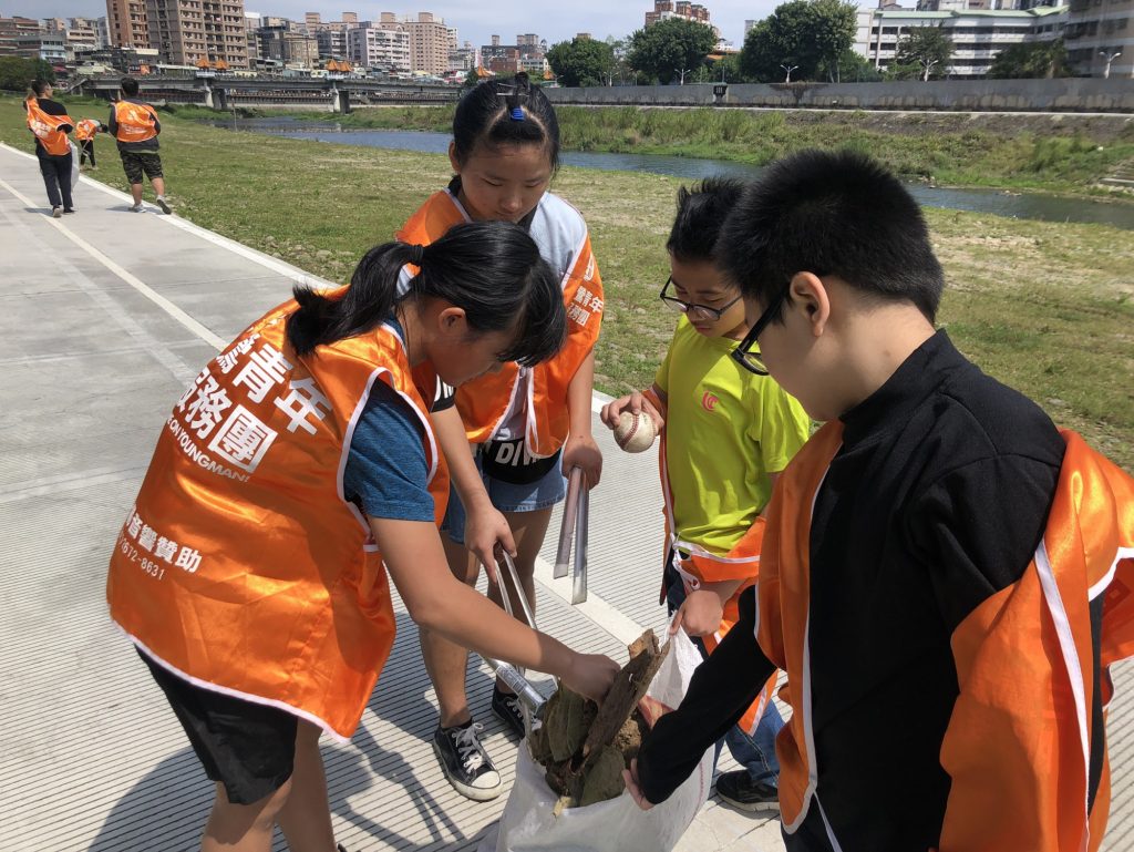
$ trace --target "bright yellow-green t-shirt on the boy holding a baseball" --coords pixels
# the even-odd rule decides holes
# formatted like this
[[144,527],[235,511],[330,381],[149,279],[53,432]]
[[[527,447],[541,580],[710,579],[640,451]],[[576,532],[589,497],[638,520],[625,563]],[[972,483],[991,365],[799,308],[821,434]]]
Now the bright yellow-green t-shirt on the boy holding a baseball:
[[769,376],[729,357],[738,341],[705,337],[682,317],[654,382],[668,397],[666,465],[679,539],[727,554],[771,499],[811,433],[803,406]]

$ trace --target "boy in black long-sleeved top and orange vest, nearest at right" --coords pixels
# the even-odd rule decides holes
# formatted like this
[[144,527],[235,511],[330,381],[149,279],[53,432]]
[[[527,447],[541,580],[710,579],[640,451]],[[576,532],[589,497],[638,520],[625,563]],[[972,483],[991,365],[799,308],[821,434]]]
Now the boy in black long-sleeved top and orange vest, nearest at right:
[[[770,673],[790,852],[1097,850],[1108,666],[1134,653],[1134,480],[933,327],[921,210],[866,157],[751,186],[735,351],[827,421],[780,476],[756,594],[642,744],[665,800]],[[759,352],[753,346],[759,341]]]

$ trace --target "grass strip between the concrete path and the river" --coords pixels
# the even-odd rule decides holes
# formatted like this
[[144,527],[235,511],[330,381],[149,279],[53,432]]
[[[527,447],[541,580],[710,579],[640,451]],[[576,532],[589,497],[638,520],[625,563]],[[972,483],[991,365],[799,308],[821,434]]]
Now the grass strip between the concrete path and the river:
[[[67,100],[76,118],[104,104]],[[773,119],[771,119],[773,120]],[[449,178],[447,158],[232,133],[163,113],[162,159],[180,216],[331,280],[390,239]],[[17,99],[0,98],[0,140],[31,151]],[[112,142],[94,176],[126,188]],[[28,165],[34,168],[34,165]],[[674,317],[657,298],[679,182],[564,168],[556,192],[591,227],[607,294],[596,386],[648,385]],[[957,346],[1060,424],[1134,471],[1134,239],[1098,225],[925,211],[949,288],[940,313]]]

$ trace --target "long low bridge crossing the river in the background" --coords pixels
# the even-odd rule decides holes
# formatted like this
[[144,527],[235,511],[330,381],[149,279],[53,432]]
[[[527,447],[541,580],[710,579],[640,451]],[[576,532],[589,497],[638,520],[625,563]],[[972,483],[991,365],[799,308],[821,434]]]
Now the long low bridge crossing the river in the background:
[[[92,76],[83,81],[85,95],[113,100],[121,75]],[[328,112],[349,112],[352,104],[450,103],[460,87],[443,83],[381,81],[346,74],[325,77],[255,77],[198,71],[195,75],[137,77],[139,96],[166,103],[194,103],[213,109],[238,107],[305,107]]]

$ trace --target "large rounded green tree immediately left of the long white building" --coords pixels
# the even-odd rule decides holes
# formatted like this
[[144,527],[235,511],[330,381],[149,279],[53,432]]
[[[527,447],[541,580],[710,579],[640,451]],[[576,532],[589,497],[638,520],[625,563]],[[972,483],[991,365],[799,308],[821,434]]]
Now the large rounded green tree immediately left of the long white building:
[[837,82],[840,58],[854,44],[853,3],[843,0],[790,0],[756,24],[744,39],[741,71],[755,81],[828,78]]

